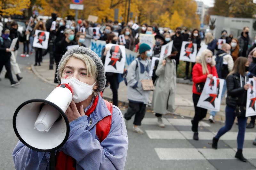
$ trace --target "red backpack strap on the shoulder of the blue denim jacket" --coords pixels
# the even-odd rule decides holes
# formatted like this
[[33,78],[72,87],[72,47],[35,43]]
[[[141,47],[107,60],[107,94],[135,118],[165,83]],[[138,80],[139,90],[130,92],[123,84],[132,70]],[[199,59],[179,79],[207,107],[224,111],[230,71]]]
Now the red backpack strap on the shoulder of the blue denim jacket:
[[96,135],[99,138],[100,143],[108,136],[108,133],[111,128],[112,112],[113,112],[112,103],[108,102],[107,100],[104,100],[104,102],[107,105],[108,110],[111,113],[111,115],[104,117],[102,120],[100,120],[96,124]]

